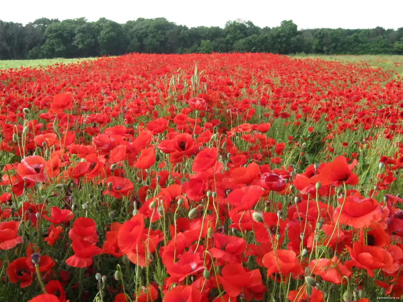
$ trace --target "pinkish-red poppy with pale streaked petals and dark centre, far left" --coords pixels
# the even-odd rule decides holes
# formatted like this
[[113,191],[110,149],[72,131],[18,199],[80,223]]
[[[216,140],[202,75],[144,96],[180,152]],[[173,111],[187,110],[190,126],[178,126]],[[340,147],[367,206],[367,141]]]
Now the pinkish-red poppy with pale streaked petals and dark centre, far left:
[[43,157],[31,155],[23,158],[17,167],[17,173],[23,179],[33,182],[45,182],[46,161]]

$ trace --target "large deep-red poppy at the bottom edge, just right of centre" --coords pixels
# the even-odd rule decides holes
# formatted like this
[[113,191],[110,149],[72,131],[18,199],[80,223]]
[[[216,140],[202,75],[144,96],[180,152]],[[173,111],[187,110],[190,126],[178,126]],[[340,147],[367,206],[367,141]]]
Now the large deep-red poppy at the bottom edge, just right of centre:
[[227,264],[222,268],[221,275],[219,279],[229,296],[236,298],[244,294],[247,301],[263,299],[266,287],[259,269],[249,271],[239,263]]

